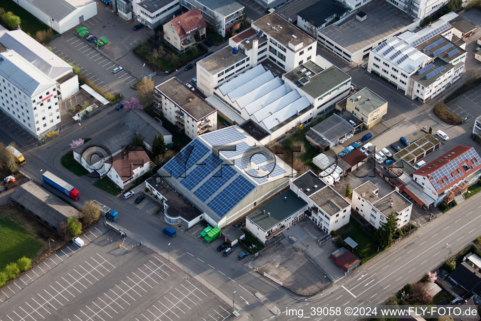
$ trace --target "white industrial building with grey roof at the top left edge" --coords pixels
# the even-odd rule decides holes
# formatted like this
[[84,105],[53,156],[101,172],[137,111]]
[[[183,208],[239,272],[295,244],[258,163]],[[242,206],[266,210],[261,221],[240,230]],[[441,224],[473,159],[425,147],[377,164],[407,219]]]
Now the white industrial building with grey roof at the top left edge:
[[94,0],[16,0],[15,3],[60,34],[97,14]]

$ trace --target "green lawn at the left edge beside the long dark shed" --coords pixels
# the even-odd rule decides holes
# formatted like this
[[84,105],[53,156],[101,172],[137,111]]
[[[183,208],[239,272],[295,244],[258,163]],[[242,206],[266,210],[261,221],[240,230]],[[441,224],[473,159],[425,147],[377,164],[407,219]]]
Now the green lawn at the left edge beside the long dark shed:
[[0,271],[11,262],[16,262],[20,257],[32,260],[37,257],[42,243],[20,224],[15,218],[20,210],[15,207],[2,207],[0,209]]

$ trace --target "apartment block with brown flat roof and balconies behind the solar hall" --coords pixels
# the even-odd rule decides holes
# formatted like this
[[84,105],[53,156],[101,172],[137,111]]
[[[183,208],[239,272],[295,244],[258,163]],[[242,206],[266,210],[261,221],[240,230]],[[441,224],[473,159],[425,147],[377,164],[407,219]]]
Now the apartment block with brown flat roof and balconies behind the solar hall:
[[217,110],[177,77],[154,87],[154,102],[158,114],[192,139],[217,129]]

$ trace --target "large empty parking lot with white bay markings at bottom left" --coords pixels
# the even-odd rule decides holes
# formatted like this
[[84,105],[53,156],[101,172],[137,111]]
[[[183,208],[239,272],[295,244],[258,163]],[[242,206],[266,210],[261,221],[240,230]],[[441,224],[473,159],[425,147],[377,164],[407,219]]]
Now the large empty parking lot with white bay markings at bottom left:
[[[223,321],[230,317],[228,304],[131,239],[111,231],[95,239],[89,232],[81,237],[86,245],[75,249],[69,244],[48,258],[49,270],[40,264],[26,273],[32,276],[37,269],[44,270],[14,298],[2,300],[0,320]],[[25,275],[20,279],[25,280]]]

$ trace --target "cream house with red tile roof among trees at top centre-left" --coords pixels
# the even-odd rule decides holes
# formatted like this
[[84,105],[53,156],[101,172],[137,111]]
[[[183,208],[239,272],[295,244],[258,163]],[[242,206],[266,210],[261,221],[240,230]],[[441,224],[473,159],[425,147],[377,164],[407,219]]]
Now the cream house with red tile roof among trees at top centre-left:
[[199,8],[194,8],[164,25],[164,39],[178,51],[185,50],[196,43],[194,34],[199,31],[201,39],[205,38],[204,17]]

